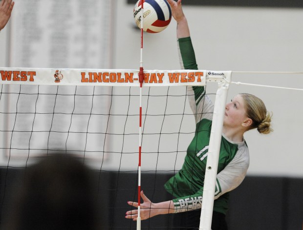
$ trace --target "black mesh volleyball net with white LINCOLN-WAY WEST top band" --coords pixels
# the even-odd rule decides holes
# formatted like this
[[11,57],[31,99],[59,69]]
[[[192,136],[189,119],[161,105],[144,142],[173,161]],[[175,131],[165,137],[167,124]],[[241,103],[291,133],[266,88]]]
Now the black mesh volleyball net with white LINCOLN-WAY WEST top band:
[[[153,202],[172,199],[163,195],[164,180],[181,168],[195,134],[186,87],[204,86],[216,101],[216,131],[209,152],[218,155],[231,72],[145,70],[142,94],[138,74],[127,69],[0,69],[1,215],[11,208],[14,188],[20,186],[12,182],[16,170],[41,156],[68,153],[98,175],[96,199],[103,203],[100,212],[106,216],[106,226],[134,228],[124,214],[130,209],[126,202],[137,199],[138,184]],[[140,142],[142,156],[138,156]],[[208,160],[210,180],[205,181],[210,190],[204,187],[212,199],[217,162],[213,156]],[[204,204],[210,201],[212,206],[212,199]],[[157,226],[163,222],[151,218],[142,222],[142,229],[150,225],[167,229],[167,221],[166,226]]]

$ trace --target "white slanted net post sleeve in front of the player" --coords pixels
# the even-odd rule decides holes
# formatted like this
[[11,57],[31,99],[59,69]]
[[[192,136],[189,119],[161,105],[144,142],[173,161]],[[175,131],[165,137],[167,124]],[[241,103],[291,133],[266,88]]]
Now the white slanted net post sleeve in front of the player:
[[[211,230],[212,225],[213,206],[216,188],[216,175],[223,129],[223,118],[232,72],[224,71],[224,73],[222,72],[222,74],[224,74],[225,76],[225,81],[221,81],[218,83],[218,88],[216,91],[213,123],[206,162],[199,230]],[[206,78],[209,77],[209,81],[211,81],[211,78],[213,76],[216,76],[216,73],[212,74],[212,72],[208,72],[208,76],[206,76]]]

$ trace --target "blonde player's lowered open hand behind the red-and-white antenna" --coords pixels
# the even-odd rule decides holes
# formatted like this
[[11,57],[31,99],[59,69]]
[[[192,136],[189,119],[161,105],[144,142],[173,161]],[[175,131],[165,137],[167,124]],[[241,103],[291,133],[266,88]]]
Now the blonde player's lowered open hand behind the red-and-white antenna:
[[[155,215],[158,215],[158,211],[155,208],[155,204],[152,203],[146,195],[143,193],[143,191],[140,192],[140,195],[143,199],[143,203],[140,204],[140,217],[141,220],[146,220],[148,218],[151,218]],[[128,201],[128,204],[132,207],[138,208],[137,202]],[[137,220],[138,217],[138,209],[129,210],[126,212],[125,218],[127,219],[133,219]]]

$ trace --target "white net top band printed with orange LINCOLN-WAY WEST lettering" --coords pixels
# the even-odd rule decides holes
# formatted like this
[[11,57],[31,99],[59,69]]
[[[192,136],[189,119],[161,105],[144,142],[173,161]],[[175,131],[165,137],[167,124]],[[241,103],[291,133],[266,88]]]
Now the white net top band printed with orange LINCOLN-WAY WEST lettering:
[[[0,67],[0,84],[140,86],[134,69]],[[144,86],[205,85],[206,70],[144,70]]]

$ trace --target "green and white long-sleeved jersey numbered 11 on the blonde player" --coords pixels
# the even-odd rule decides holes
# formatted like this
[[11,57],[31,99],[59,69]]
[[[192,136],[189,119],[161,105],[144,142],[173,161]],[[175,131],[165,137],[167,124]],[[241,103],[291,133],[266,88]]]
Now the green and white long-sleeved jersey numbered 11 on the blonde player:
[[[197,69],[191,38],[178,40],[181,67]],[[202,204],[206,160],[212,127],[214,105],[203,86],[187,88],[187,96],[195,115],[195,137],[188,146],[181,170],[166,184],[173,194],[175,212],[200,209]],[[224,134],[221,138],[214,211],[226,214],[229,191],[243,181],[249,166],[249,152],[245,141],[230,141]]]

